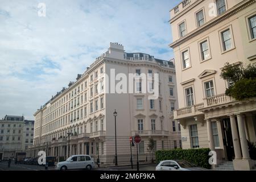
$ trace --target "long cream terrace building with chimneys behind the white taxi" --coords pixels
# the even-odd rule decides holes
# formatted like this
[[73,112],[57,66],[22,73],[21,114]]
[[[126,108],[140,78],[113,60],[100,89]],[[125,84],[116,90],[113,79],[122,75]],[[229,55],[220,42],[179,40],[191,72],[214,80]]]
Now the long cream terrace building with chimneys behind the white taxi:
[[[148,100],[148,93],[141,93],[141,85],[137,84],[134,89],[138,93],[110,93],[113,89],[111,69],[115,76],[148,73],[153,76],[153,82],[154,73],[159,73],[158,99]],[[126,53],[122,45],[110,43],[108,51],[79,75],[76,82],[71,82],[67,89],[63,88],[36,111],[30,155],[37,156],[40,150],[48,156],[64,158],[89,154],[94,160],[99,156],[101,164],[113,164],[115,109],[118,163],[130,163],[129,137],[135,134],[142,137],[139,160],[150,160],[147,150],[150,138],[154,139],[156,150],[181,147],[180,127],[173,117],[173,110],[177,108],[175,82],[173,61],[155,59],[144,53]],[[73,134],[69,138],[69,153],[68,133]],[[135,155],[135,147],[132,148]]]

